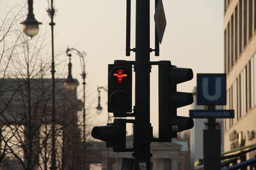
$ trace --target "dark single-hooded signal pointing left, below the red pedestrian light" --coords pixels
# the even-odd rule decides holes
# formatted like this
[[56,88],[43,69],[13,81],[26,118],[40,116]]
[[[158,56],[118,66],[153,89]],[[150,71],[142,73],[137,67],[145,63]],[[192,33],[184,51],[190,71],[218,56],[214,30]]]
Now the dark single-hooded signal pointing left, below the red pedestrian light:
[[114,152],[125,152],[126,120],[116,118],[113,124],[95,126],[92,129],[92,137],[105,141],[107,148],[113,148]]

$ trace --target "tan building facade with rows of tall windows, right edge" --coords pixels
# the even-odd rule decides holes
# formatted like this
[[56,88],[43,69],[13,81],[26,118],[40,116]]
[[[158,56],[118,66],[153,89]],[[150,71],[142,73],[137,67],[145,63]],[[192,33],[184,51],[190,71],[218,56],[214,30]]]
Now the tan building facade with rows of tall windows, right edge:
[[[224,3],[226,109],[235,113],[234,118],[224,120],[224,150],[237,150],[230,152],[234,154],[256,143],[256,1],[225,0]],[[255,155],[248,152],[243,159]]]

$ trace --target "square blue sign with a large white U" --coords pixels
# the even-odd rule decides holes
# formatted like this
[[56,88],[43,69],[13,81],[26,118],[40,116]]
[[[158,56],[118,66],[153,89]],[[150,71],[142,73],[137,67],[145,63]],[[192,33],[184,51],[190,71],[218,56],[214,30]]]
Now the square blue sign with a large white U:
[[226,74],[197,74],[197,104],[225,105]]

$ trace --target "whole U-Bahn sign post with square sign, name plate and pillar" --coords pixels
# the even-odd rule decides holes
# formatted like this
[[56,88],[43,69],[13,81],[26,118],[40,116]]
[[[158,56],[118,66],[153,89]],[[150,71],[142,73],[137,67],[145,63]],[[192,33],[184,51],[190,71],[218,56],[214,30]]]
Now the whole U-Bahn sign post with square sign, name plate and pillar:
[[207,110],[189,110],[189,117],[207,118],[204,130],[204,169],[221,169],[221,132],[216,118],[234,118],[234,110],[216,110],[227,103],[226,74],[197,74],[197,104]]

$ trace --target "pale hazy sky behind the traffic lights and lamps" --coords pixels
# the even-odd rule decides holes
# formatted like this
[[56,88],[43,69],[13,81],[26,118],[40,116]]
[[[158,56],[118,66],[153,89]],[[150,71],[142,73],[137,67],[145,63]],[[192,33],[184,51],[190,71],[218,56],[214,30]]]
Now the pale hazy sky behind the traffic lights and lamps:
[[[57,0],[54,2],[57,9],[54,18],[56,23],[54,26],[55,49],[64,52],[68,46],[87,53],[86,83],[87,94],[90,97],[87,104],[90,104],[97,97],[97,86],[106,87],[108,84],[108,64],[112,64],[114,60],[134,60],[133,52],[131,52],[131,57],[125,57],[126,1]],[[154,1],[150,2],[150,39],[152,39],[150,47],[154,48]],[[27,1],[1,0],[1,13],[8,11],[18,3],[26,4]],[[135,1],[132,1],[131,48],[134,48],[135,40],[134,4]],[[193,90],[196,86],[196,73],[223,73],[223,4],[221,0],[163,0],[167,24],[160,45],[160,56],[155,57],[152,53],[151,60],[171,60],[172,64],[177,67],[193,69],[193,80],[178,85],[180,91],[191,92]],[[45,11],[47,6],[46,0],[34,0],[35,18],[43,22],[41,29],[49,24],[49,17]],[[22,29],[21,25],[20,29]],[[50,27],[48,29],[50,35]],[[67,64],[67,56],[63,54],[60,57],[63,57]],[[81,66],[79,57],[75,53],[72,55],[72,64],[74,66],[73,77],[78,78],[81,83]],[[158,129],[157,81],[157,67],[153,67],[150,117],[152,117],[154,134]],[[79,88],[81,89],[82,85]],[[101,115],[93,118],[98,120],[95,125],[106,124],[107,120],[108,94],[102,92],[101,96],[104,110]],[[97,100],[91,108],[95,108],[96,104]],[[188,115],[190,108],[191,106],[187,106],[179,109],[178,114]],[[88,114],[96,115],[93,110]]]

